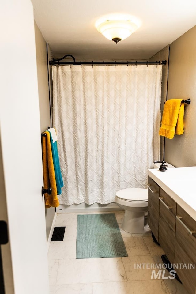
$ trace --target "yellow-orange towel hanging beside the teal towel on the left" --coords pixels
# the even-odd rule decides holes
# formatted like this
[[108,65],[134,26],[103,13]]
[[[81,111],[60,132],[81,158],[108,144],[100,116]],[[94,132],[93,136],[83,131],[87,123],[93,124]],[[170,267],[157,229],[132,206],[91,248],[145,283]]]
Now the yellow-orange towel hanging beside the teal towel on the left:
[[47,189],[48,187],[51,187],[52,189],[51,195],[48,195],[47,193],[44,194],[45,207],[57,207],[59,206],[59,201],[57,196],[55,169],[52,159],[50,133],[44,132],[43,134],[46,134],[46,137],[42,137],[43,184],[45,189]]

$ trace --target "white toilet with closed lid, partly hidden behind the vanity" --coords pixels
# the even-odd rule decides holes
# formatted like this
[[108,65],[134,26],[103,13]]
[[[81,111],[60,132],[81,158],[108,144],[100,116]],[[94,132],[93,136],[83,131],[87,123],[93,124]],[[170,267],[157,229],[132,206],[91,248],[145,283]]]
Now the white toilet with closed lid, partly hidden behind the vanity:
[[[167,164],[168,168],[174,168]],[[154,168],[159,168],[159,164],[154,164]],[[148,189],[128,188],[116,193],[116,204],[125,209],[122,228],[129,233],[146,233],[150,232],[147,224],[148,211]]]

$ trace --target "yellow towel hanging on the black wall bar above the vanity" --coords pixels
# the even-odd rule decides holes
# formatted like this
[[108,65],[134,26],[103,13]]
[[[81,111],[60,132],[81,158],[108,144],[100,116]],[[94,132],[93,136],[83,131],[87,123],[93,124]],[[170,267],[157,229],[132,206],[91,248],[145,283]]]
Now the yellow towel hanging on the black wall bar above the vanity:
[[173,139],[174,134],[183,134],[184,103],[181,103],[181,101],[181,99],[170,99],[165,102],[159,131],[160,136]]

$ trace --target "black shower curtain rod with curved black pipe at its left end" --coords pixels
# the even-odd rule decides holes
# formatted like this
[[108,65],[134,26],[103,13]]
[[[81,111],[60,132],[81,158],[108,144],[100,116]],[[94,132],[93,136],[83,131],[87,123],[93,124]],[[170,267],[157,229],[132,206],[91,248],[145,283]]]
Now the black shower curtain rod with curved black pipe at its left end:
[[[62,59],[66,58],[67,56],[70,56],[73,58],[74,61],[61,61]],[[76,61],[73,55],[67,54],[65,56],[63,56],[62,58],[59,59],[55,59],[53,58],[52,61],[49,61],[50,65],[61,65],[61,64],[65,64],[65,65],[82,65],[82,64],[90,64],[90,65],[94,65],[94,64],[156,64],[156,65],[160,65],[160,64],[166,64],[167,60],[162,60],[162,61]]]

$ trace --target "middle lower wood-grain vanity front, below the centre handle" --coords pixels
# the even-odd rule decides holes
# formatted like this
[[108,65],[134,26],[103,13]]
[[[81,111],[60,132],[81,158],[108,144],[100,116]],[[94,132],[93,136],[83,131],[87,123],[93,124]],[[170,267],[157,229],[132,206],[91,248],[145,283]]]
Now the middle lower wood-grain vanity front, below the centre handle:
[[174,262],[175,250],[175,215],[163,202],[159,202],[159,243],[163,248],[167,258]]

